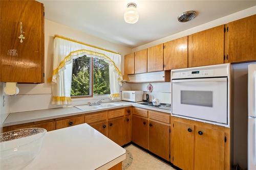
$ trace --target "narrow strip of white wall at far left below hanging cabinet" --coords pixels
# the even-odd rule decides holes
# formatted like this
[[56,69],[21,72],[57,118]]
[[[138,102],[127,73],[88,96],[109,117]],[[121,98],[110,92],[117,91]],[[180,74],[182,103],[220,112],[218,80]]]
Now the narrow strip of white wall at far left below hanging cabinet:
[[8,95],[4,94],[4,85],[5,83],[0,82],[0,133],[2,133],[3,123],[10,113]]

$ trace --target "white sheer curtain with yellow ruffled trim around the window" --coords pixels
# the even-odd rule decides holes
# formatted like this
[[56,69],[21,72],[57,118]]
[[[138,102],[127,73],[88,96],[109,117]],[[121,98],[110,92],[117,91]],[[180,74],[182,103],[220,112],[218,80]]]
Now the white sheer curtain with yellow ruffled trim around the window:
[[52,75],[52,104],[63,105],[71,102],[72,60],[86,55],[104,60],[109,64],[110,97],[119,98],[119,88],[122,85],[120,72],[120,54],[100,50],[66,37],[55,36],[53,75]]

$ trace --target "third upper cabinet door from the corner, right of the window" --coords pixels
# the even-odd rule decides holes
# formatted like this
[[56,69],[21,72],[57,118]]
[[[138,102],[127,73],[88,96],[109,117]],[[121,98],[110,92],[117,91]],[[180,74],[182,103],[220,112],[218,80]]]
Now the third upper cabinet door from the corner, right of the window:
[[163,70],[163,44],[147,48],[147,72]]

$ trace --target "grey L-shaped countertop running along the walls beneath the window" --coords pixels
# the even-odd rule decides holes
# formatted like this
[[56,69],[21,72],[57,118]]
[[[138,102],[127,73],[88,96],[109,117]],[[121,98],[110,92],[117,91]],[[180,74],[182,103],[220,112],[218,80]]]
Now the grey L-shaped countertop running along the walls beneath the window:
[[92,113],[92,112],[110,110],[110,109],[117,109],[117,108],[129,107],[129,106],[135,106],[135,107],[140,107],[140,108],[144,108],[144,109],[148,109],[148,110],[155,110],[155,111],[160,111],[160,112],[165,112],[165,113],[171,114],[170,110],[163,110],[163,109],[158,109],[158,108],[154,108],[154,107],[150,107],[150,106],[140,105],[139,103],[142,103],[142,102],[133,103],[133,102],[119,101],[119,102],[112,102],[112,103],[117,103],[117,104],[121,104],[121,105],[115,106],[115,107],[109,107],[109,108],[101,108],[101,109],[97,109],[97,110],[88,110],[88,111],[83,111],[83,110],[80,110],[80,109],[72,106],[72,107],[66,107],[66,108],[10,113],[5,120],[3,127],[37,122],[40,120],[47,120],[47,119],[52,119],[52,118],[73,116],[73,115],[78,115],[78,114],[86,114],[86,113]]

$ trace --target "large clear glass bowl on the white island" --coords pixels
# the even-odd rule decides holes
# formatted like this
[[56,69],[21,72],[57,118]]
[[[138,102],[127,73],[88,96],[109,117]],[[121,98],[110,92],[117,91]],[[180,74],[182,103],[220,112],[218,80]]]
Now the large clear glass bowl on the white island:
[[46,132],[42,128],[26,128],[0,134],[0,169],[21,169],[28,165],[41,150]]

